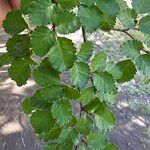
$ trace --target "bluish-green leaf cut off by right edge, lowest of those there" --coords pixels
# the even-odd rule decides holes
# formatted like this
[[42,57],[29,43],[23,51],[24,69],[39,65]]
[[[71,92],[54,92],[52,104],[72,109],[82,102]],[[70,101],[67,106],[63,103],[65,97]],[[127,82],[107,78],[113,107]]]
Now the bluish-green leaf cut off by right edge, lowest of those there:
[[150,54],[141,55],[137,58],[136,64],[146,76],[150,77]]

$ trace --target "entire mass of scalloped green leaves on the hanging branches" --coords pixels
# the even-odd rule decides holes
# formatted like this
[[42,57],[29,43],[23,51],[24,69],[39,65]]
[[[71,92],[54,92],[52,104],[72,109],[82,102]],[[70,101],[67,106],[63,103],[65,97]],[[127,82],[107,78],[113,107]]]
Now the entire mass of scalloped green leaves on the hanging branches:
[[[39,85],[22,109],[47,142],[45,150],[117,150],[106,136],[115,126],[109,104],[117,83],[130,81],[138,70],[150,77],[150,1],[132,0],[132,6],[122,0],[21,0],[20,10],[8,13],[3,27],[12,36],[0,67],[10,64],[9,76],[18,86],[29,77]],[[139,14],[145,15],[136,21]],[[116,29],[118,21],[122,28]],[[83,35],[79,49],[64,36],[77,30]],[[95,53],[96,43],[87,35],[96,30],[128,36],[119,49],[123,60],[113,62],[103,49]]]

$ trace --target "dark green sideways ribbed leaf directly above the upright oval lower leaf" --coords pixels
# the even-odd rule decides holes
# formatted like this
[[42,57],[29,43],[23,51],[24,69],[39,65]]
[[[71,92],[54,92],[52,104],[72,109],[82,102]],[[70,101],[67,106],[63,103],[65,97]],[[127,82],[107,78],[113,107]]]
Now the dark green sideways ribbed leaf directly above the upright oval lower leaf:
[[41,89],[40,93],[45,100],[54,102],[64,96],[64,87],[61,85],[53,85]]

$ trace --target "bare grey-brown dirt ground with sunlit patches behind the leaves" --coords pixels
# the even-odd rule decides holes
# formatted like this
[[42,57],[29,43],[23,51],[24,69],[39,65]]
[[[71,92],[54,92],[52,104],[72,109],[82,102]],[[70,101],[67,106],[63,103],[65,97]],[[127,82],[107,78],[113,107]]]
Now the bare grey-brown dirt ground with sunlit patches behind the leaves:
[[[97,50],[107,47],[113,50],[114,45],[119,42],[114,38],[115,40],[112,40],[110,44],[111,36],[111,34],[106,35],[105,39],[101,39],[100,36],[94,35],[90,38],[96,41]],[[72,37],[78,46],[81,39]],[[7,38],[8,35],[1,31],[0,55],[6,50]],[[42,150],[42,144],[34,135],[28,116],[21,111],[21,102],[34,94],[37,85],[30,79],[27,85],[17,87],[8,77],[8,67],[4,66],[0,69],[0,150]],[[121,91],[117,102],[111,106],[116,115],[117,125],[109,138],[119,146],[120,150],[150,150],[150,131],[148,131],[150,115],[132,110],[127,103],[129,96],[126,90]],[[147,94],[140,100],[150,103],[149,96]]]

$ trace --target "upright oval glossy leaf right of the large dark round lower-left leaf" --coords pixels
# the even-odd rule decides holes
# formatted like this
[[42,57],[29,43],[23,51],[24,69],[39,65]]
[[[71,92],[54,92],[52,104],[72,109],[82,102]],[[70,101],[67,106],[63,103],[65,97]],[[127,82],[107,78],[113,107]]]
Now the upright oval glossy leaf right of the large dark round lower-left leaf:
[[66,99],[55,101],[52,105],[52,115],[60,125],[67,124],[72,119],[71,104]]

